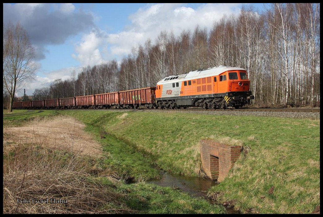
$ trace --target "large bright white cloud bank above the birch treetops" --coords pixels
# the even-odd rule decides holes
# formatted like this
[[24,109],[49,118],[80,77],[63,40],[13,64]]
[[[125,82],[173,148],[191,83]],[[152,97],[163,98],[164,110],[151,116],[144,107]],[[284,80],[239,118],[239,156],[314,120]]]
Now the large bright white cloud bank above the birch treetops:
[[[173,31],[175,36],[183,30],[193,31],[196,25],[210,30],[214,21],[218,21],[224,14],[240,13],[241,4],[212,3],[204,4],[197,9],[186,7],[183,4],[156,4],[140,8],[130,15],[131,25],[124,31],[116,34],[107,34],[104,31],[99,35],[91,32],[82,38],[73,57],[84,64],[99,64],[104,60],[117,58],[131,53],[131,48],[144,44],[150,38],[155,40],[161,31]],[[108,50],[100,49],[107,47]]]

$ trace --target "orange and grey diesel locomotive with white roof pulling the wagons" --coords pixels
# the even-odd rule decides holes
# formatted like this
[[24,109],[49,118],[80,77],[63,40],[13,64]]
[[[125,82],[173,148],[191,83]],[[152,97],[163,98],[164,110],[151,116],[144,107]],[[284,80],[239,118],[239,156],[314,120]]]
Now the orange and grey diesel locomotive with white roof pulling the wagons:
[[250,104],[250,80],[243,68],[219,66],[172,75],[156,86],[158,108],[239,108]]

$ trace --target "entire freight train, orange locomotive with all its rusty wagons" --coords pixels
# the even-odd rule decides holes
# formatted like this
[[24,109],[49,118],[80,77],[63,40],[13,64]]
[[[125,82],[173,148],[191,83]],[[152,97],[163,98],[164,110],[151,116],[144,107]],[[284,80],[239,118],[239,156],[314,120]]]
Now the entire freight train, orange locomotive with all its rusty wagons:
[[243,68],[218,66],[171,75],[156,87],[60,99],[14,102],[14,109],[239,108],[255,97]]

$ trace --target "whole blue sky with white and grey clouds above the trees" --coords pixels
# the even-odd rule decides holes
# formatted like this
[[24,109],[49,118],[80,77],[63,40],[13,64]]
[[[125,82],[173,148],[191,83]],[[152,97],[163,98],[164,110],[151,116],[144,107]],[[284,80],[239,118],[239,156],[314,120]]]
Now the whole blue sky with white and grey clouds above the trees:
[[[264,5],[253,4],[261,11]],[[37,76],[26,85],[48,86],[54,79],[68,79],[83,66],[120,61],[131,47],[156,39],[161,31],[193,30],[196,25],[210,29],[224,14],[239,14],[242,4],[3,4],[4,25],[19,22],[36,49]],[[20,96],[23,91],[17,95]]]

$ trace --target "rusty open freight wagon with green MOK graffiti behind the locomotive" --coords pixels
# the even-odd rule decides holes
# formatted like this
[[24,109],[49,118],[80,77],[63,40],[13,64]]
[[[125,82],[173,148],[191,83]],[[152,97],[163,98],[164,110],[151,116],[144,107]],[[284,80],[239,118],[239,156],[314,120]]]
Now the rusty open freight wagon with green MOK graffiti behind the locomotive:
[[146,87],[119,92],[120,107],[122,108],[153,108],[156,87]]

